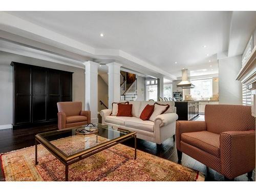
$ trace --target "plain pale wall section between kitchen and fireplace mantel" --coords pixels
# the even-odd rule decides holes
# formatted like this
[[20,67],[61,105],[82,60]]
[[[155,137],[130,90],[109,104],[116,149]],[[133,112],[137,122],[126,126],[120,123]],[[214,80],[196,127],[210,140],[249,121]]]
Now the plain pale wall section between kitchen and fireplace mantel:
[[242,67],[242,56],[219,60],[219,103],[242,104],[242,83],[236,80]]

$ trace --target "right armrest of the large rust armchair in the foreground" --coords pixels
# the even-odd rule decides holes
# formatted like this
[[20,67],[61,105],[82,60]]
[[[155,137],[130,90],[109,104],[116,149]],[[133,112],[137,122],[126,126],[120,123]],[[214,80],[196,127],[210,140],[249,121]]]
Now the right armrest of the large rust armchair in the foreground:
[[221,174],[229,179],[255,167],[255,131],[223,132],[220,135]]

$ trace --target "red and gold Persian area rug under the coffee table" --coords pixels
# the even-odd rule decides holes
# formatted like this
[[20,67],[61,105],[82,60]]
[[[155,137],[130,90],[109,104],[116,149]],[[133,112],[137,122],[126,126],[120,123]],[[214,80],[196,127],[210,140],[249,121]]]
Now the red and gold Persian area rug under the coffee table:
[[[73,146],[74,138],[53,141],[62,148]],[[77,141],[77,140],[76,140]],[[82,141],[81,141],[82,142]],[[46,148],[38,145],[38,165],[35,147],[0,156],[5,181],[65,181],[65,166]],[[117,144],[107,150],[69,166],[69,181],[204,181],[197,170],[154,155]]]

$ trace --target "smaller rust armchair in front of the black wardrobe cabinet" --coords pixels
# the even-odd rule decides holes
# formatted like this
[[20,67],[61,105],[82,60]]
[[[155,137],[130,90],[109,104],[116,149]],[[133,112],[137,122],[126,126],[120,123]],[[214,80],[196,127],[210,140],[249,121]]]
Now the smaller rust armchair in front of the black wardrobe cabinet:
[[58,129],[91,122],[91,111],[82,111],[82,102],[58,102]]

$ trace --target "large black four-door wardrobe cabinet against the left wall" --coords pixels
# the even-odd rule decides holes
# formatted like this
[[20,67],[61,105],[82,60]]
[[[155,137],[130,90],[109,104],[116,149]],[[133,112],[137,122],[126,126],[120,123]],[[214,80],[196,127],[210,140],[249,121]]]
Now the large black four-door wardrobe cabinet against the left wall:
[[13,129],[57,122],[57,102],[72,101],[72,72],[12,62]]

